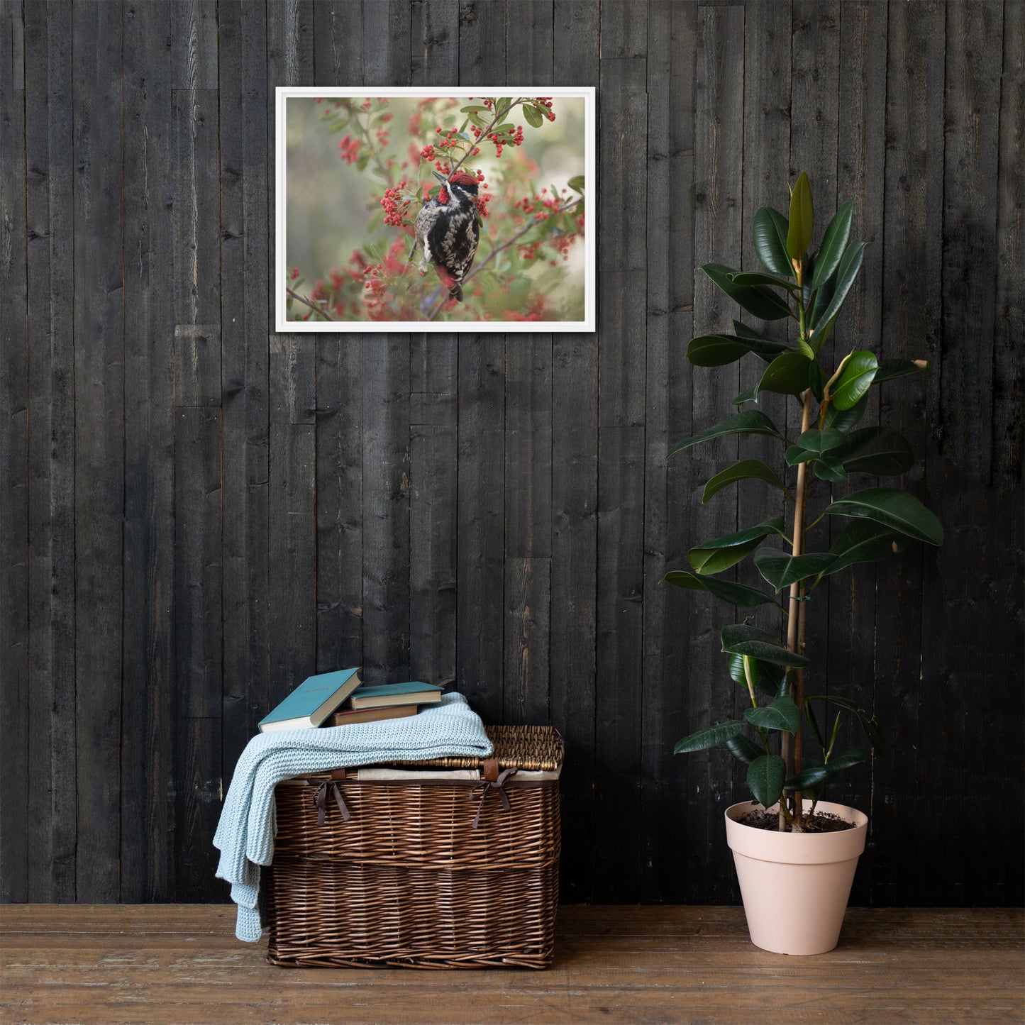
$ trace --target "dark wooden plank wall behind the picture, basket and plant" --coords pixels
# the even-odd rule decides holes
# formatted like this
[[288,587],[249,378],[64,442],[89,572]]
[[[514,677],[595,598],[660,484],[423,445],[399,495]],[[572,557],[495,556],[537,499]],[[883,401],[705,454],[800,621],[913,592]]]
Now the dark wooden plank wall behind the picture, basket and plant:
[[[1025,6],[0,11],[3,900],[223,899],[239,752],[348,664],[562,730],[567,900],[734,899],[740,774],[670,753],[734,713],[729,613],[660,580],[775,498],[700,504],[735,441],[664,456],[750,383],[684,359],[734,316],[694,266],[803,169],[871,242],[838,348],[934,361],[871,412],[948,538],[814,610],[892,739],[856,900],[1022,900]],[[506,82],[599,88],[599,331],[273,332],[274,87]]]

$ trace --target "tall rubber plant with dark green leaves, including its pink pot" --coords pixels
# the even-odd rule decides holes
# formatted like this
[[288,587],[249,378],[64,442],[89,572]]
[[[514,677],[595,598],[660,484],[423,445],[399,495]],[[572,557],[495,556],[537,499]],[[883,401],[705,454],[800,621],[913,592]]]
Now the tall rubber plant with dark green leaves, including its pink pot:
[[[838,773],[864,762],[870,748],[884,747],[868,710],[824,686],[806,686],[806,670],[817,679],[805,654],[809,600],[833,574],[858,563],[886,559],[909,542],[943,541],[936,516],[899,486],[914,461],[907,440],[886,424],[861,425],[872,386],[929,364],[880,362],[869,350],[831,354],[827,345],[865,249],[851,238],[852,211],[852,203],[839,207],[813,249],[814,206],[802,174],[790,191],[788,214],[763,207],[754,216],[754,251],[764,271],[701,268],[752,317],[792,320],[796,338],[788,342],[739,321],[733,333],[694,338],[687,356],[696,366],[747,358],[764,368],[757,382],[734,400],[739,412],[669,452],[671,457],[731,435],[778,445],[775,466],[742,458],[707,482],[702,501],[734,484],[757,481],[779,490],[786,515],[701,541],[689,550],[691,568],[665,579],[740,610],[734,617],[739,621],[720,636],[724,683],[739,687],[747,705],[743,717],[702,726],[675,752],[724,745],[745,764],[754,799],[726,810],[727,839],[751,940],[781,953],[821,953],[836,945],[867,818],[822,795]],[[767,393],[788,396],[799,407],[801,429],[792,437],[758,408]],[[868,486],[862,487],[865,477]],[[872,478],[887,479],[887,486]],[[848,481],[842,495],[831,494],[833,485]],[[845,525],[830,544],[827,525],[836,518]],[[747,559],[761,586],[722,576]],[[778,629],[747,621],[760,606],[775,606],[782,616]],[[839,749],[848,716],[860,726],[864,743]]]

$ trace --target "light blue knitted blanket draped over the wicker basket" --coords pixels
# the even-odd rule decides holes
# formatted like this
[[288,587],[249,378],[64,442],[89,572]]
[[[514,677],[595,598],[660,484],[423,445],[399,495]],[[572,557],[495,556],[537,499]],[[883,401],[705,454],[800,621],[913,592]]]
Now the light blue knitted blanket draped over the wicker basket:
[[486,757],[491,750],[481,716],[454,693],[443,695],[440,705],[405,719],[253,737],[235,768],[213,836],[220,851],[217,876],[232,884],[232,900],[239,906],[235,935],[249,943],[260,938],[259,869],[274,857],[274,788],[283,779],[377,762]]

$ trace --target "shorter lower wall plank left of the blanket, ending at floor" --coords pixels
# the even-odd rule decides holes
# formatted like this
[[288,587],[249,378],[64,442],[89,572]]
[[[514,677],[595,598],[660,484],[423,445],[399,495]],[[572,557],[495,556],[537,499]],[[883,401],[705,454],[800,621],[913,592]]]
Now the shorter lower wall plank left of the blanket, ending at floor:
[[210,892],[220,776],[220,410],[175,410],[174,639],[177,663],[174,899]]

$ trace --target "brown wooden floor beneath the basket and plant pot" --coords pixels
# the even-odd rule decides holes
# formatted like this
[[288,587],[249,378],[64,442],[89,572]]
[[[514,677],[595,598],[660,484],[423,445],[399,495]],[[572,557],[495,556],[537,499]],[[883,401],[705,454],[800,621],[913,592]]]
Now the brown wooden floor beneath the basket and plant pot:
[[3,1023],[1022,1022],[1019,910],[848,912],[818,957],[752,947],[743,911],[567,907],[547,972],[287,970],[234,907],[6,905]]

